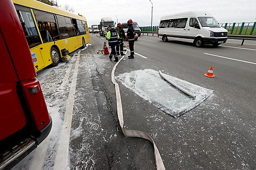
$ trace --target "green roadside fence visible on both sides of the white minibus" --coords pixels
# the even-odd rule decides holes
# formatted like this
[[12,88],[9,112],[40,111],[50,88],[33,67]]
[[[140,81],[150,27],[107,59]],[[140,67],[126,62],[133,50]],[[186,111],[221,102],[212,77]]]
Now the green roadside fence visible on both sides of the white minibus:
[[[228,34],[233,35],[251,35],[256,36],[256,22],[242,22],[242,23],[225,23],[220,24],[221,27],[227,29]],[[141,31],[156,32],[159,26],[140,27]]]

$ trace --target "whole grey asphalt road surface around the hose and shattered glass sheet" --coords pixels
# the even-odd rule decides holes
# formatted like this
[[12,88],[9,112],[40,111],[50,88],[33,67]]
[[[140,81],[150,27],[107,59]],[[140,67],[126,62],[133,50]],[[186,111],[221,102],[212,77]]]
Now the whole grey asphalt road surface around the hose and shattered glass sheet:
[[[60,164],[56,166],[56,148],[62,146],[60,122],[65,120],[74,77],[76,93],[71,132],[67,134],[68,155],[62,155],[68,159],[68,169],[155,169],[152,144],[125,137],[118,124],[111,82],[115,62],[97,53],[104,41],[91,34],[92,45],[81,51],[77,63],[77,78],[76,57],[49,73],[47,69],[38,73],[39,77],[47,74],[40,80],[45,101],[50,108],[57,108],[59,115],[52,115],[55,127],[44,141],[45,153],[38,147],[13,169],[36,169],[32,168],[39,162],[35,157],[41,154],[45,155],[42,169],[61,168]],[[141,36],[135,43],[135,52],[135,59],[125,57],[118,64],[115,75],[139,69],[161,70],[214,90],[199,106],[174,118],[120,84],[125,129],[150,134],[166,169],[256,169],[254,45],[226,43],[217,48],[195,48],[189,43],[164,43],[156,37]],[[215,78],[204,76],[209,67],[213,67]],[[67,73],[70,75],[65,80]]]

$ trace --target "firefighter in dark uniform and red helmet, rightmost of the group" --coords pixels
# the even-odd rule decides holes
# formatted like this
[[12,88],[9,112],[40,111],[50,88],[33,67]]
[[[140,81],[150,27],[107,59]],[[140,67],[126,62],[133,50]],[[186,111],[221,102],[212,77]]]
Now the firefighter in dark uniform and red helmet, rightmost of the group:
[[133,23],[132,20],[129,19],[127,21],[128,24],[128,30],[127,30],[127,39],[128,39],[128,43],[129,43],[129,48],[130,48],[130,52],[131,55],[128,56],[128,59],[134,59],[134,41],[135,41],[135,31],[133,28]]

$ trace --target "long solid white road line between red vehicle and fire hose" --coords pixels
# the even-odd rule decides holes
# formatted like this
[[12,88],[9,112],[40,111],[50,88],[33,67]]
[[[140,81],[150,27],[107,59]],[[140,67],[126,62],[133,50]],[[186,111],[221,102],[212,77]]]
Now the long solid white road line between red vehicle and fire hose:
[[67,107],[65,111],[65,116],[63,120],[63,125],[61,129],[58,151],[55,158],[54,169],[67,169],[68,167],[68,148],[70,140],[70,129],[72,123],[72,114],[75,101],[75,92],[76,92],[76,80],[79,66],[80,52],[78,52],[76,59],[76,66],[74,69],[74,74],[72,76],[72,83],[70,86],[70,91],[67,99]]

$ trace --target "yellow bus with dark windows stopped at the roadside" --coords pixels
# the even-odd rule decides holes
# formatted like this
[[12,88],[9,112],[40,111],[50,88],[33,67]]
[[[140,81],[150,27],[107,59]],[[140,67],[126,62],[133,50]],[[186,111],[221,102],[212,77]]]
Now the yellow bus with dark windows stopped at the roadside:
[[[86,18],[35,0],[13,0],[36,71],[90,42]],[[13,39],[13,41],[15,41]]]

